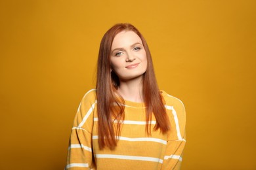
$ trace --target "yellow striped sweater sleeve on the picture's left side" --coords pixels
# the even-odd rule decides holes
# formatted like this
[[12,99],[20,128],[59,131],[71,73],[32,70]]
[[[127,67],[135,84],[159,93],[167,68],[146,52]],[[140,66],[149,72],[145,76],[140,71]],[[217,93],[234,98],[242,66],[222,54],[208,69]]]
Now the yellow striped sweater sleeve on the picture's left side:
[[95,169],[92,147],[95,105],[95,95],[85,94],[75,114],[65,169]]

